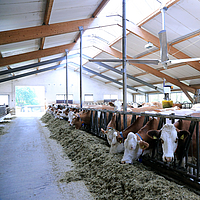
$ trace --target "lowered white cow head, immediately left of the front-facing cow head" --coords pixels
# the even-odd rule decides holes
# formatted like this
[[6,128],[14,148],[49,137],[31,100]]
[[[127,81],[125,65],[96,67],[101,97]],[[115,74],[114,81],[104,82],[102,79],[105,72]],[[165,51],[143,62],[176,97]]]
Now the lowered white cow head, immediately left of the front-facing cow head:
[[137,160],[142,154],[143,150],[147,149],[149,144],[140,139],[140,137],[133,132],[130,132],[124,142],[124,156],[121,160],[122,164],[132,164],[133,160]]

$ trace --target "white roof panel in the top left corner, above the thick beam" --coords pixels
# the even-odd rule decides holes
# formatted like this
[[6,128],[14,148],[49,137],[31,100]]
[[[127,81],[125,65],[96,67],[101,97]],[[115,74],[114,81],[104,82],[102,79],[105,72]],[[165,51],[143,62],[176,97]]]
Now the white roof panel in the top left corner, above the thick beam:
[[42,25],[45,0],[1,0],[0,31]]

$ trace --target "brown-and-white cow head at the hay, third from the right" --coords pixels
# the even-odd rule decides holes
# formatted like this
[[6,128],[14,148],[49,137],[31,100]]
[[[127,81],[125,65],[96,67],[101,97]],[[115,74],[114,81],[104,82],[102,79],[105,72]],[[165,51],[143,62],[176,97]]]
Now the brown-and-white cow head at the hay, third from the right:
[[124,151],[123,144],[117,141],[117,131],[114,128],[108,127],[106,131],[103,129],[101,129],[101,131],[107,136],[107,141],[110,145],[110,153],[120,153]]

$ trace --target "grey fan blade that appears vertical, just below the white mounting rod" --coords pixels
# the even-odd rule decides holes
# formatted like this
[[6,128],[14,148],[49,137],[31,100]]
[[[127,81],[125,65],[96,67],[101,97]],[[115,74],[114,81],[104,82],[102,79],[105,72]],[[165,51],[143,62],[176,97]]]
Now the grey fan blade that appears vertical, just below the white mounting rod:
[[160,57],[161,62],[169,60],[167,56],[167,34],[166,30],[162,30],[158,33],[159,40],[160,40]]

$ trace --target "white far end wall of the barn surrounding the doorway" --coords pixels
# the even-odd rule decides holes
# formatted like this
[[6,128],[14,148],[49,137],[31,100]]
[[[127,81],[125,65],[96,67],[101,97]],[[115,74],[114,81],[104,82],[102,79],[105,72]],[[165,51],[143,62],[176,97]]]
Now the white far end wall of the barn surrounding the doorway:
[[[10,96],[9,106],[15,107],[15,86],[45,86],[46,104],[55,103],[56,94],[66,93],[66,73],[65,69],[57,69],[49,72],[31,75],[28,77],[15,79],[5,83],[0,83],[0,94],[8,94]],[[79,103],[80,99],[80,76],[78,72],[68,70],[68,93],[73,94],[74,103]],[[118,95],[118,100],[123,99],[123,90],[114,86],[104,84],[101,81],[89,78],[83,75],[83,101],[84,94],[93,94],[94,101],[103,101],[104,94]],[[132,102],[131,93],[127,93],[127,101]]]

